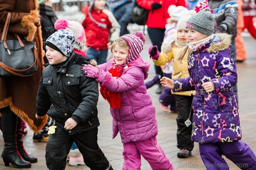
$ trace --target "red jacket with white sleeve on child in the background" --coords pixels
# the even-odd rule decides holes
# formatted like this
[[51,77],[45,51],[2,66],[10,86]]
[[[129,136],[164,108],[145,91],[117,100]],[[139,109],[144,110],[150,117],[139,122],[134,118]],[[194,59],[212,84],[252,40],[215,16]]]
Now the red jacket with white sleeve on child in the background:
[[106,24],[107,28],[99,27],[88,16],[89,5],[86,5],[82,9],[82,13],[85,14],[85,19],[82,22],[82,26],[85,30],[86,46],[92,47],[96,50],[108,49],[107,43],[115,41],[120,34],[120,25],[113,16],[112,12],[103,9],[101,11],[92,9],[91,14],[96,21]]

